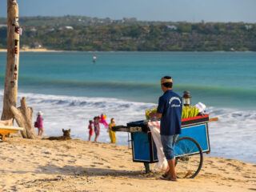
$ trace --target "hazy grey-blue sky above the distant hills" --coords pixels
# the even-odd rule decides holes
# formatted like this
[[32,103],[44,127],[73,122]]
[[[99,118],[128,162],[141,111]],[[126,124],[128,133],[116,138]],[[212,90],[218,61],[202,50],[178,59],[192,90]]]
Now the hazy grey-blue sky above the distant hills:
[[[84,15],[147,21],[256,22],[256,0],[17,0],[20,16]],[[0,0],[6,17],[7,0]]]

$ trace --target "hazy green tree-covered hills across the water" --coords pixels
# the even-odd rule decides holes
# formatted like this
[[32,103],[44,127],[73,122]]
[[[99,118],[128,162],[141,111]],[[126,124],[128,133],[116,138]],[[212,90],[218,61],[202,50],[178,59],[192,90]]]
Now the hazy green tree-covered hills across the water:
[[[42,46],[51,50],[106,51],[256,50],[256,24],[85,18],[20,18],[21,46]],[[0,23],[3,22],[2,19],[0,18]],[[0,28],[0,48],[6,48],[6,27]]]

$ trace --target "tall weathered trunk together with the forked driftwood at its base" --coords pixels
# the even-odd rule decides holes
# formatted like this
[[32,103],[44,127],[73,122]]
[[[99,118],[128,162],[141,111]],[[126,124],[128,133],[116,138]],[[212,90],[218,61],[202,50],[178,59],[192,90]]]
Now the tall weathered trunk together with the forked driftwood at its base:
[[2,120],[15,118],[18,126],[24,127],[23,138],[35,138],[32,124],[33,109],[26,106],[26,98],[22,98],[21,106],[16,108],[18,94],[19,63],[19,25],[18,3],[7,0],[7,63],[6,82],[3,98]]

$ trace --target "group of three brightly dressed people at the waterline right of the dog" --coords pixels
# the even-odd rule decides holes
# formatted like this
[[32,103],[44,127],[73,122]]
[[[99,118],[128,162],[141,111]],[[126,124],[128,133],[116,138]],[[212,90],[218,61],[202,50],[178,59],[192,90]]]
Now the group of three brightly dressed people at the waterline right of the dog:
[[108,132],[110,134],[110,142],[111,143],[116,143],[116,137],[115,137],[115,132],[114,130],[112,130],[112,127],[115,126],[115,120],[114,118],[111,118],[110,120],[110,124],[107,124],[105,121],[103,121],[103,119],[99,116],[94,117],[94,121],[90,120],[89,121],[89,138],[88,140],[90,141],[91,137],[93,136],[93,134],[95,134],[95,138],[94,138],[94,142],[98,142],[98,136],[100,133],[100,126],[99,123],[103,123],[104,126],[108,129]]

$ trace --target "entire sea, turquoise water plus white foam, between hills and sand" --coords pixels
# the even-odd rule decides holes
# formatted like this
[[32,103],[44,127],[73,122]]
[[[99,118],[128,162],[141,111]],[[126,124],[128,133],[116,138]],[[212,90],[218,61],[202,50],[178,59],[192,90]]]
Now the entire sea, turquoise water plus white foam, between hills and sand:
[[[93,63],[93,55],[97,55]],[[6,53],[0,53],[0,112]],[[211,156],[256,162],[255,52],[65,52],[21,53],[18,99],[42,110],[46,135],[71,129],[88,138],[88,121],[106,114],[118,125],[145,118],[162,94],[160,78],[170,75],[174,91],[190,90],[210,118]],[[128,145],[128,134],[117,133]],[[99,142],[110,142],[101,127]]]

